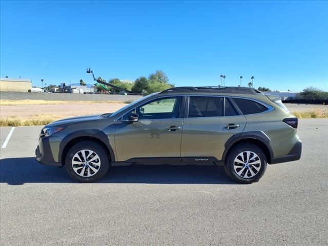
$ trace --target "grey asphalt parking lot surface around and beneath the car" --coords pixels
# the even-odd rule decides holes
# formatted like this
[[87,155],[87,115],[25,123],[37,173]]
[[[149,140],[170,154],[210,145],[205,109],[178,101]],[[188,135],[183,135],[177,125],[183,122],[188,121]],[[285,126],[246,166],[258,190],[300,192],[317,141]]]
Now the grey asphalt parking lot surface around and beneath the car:
[[0,244],[328,245],[328,119],[303,119],[299,161],[252,185],[200,166],[115,167],[98,183],[39,165],[42,127],[0,128]]

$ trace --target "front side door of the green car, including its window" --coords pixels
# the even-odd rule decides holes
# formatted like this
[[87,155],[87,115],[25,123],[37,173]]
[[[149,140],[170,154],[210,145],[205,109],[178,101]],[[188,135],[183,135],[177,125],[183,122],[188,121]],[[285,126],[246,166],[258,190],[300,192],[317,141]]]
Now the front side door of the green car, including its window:
[[[119,117],[115,128],[117,161],[133,158],[181,157],[185,96],[151,99]],[[135,113],[138,120],[129,122]]]

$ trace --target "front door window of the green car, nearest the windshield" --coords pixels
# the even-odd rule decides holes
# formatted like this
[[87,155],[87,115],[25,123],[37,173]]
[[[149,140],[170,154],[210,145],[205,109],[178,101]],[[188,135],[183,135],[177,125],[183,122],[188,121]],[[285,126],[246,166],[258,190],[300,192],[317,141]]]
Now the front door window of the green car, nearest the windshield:
[[170,119],[179,118],[182,97],[160,98],[141,105],[122,119],[127,120],[132,112],[139,115],[139,119]]

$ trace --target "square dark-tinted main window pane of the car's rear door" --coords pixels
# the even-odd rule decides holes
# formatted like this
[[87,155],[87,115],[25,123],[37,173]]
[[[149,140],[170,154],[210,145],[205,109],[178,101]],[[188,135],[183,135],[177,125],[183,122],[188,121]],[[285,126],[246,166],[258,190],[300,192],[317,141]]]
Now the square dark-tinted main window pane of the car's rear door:
[[223,97],[191,96],[188,117],[223,116]]

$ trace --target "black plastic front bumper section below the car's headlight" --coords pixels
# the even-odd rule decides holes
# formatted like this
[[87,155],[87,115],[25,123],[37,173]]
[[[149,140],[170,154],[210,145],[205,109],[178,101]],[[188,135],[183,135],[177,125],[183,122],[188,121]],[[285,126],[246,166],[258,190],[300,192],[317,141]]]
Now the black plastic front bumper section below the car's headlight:
[[49,137],[40,137],[39,145],[35,150],[35,159],[43,165],[61,167],[61,162],[57,162],[54,160],[50,144]]

